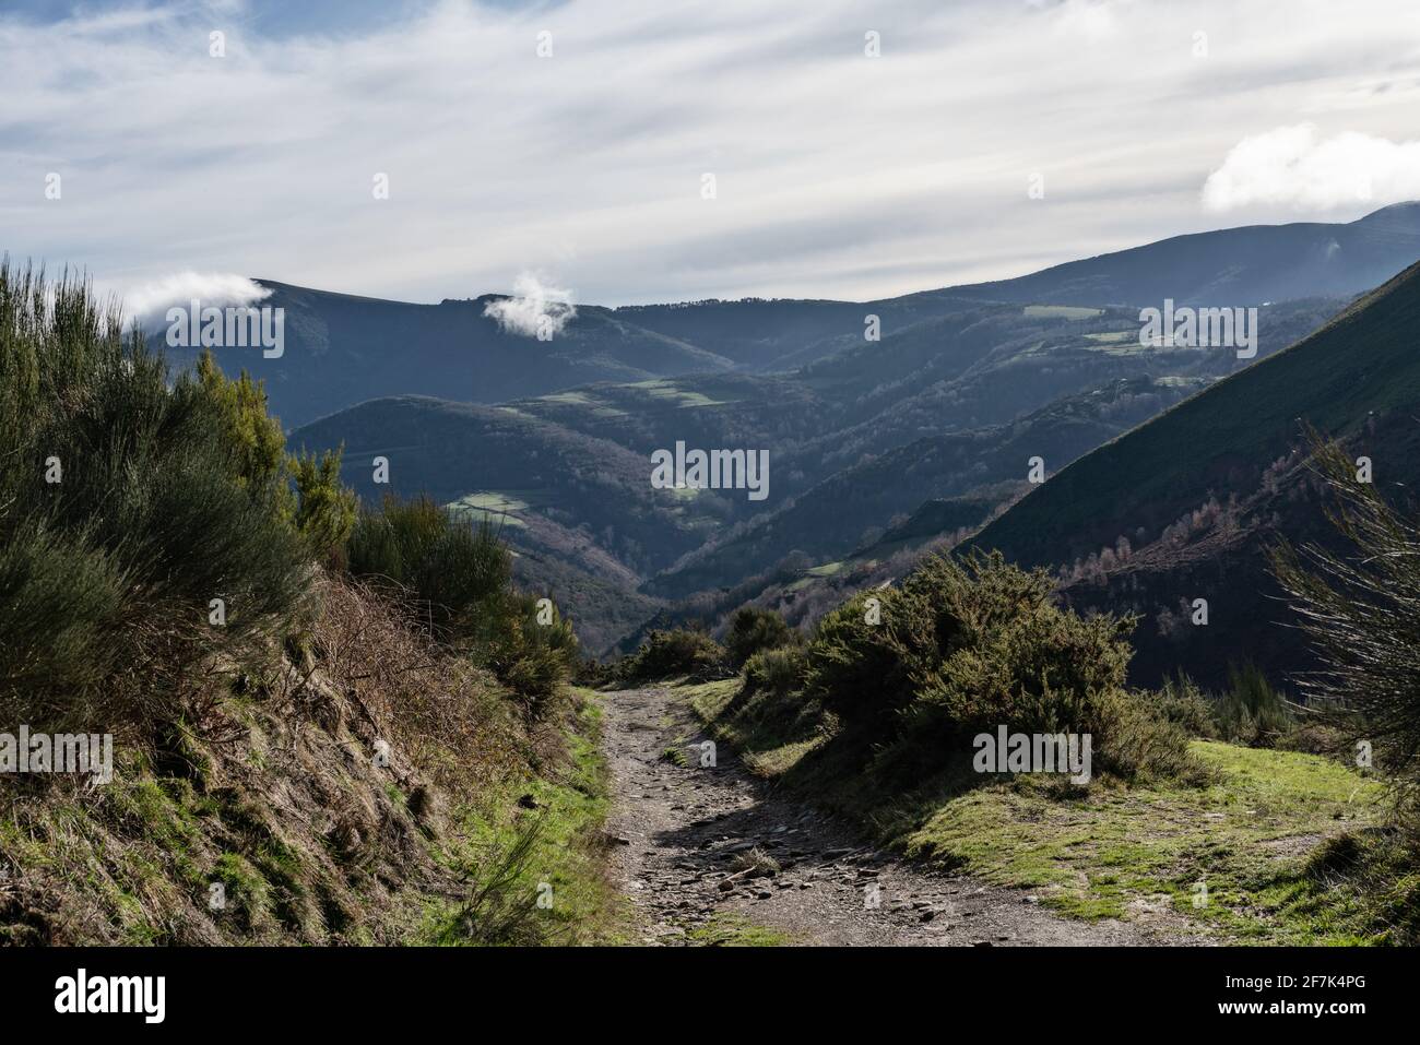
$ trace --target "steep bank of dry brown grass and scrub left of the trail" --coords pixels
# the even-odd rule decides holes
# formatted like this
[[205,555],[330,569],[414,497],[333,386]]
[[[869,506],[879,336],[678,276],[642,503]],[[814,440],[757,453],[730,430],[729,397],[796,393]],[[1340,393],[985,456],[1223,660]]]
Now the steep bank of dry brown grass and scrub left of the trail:
[[567,716],[530,726],[359,585],[311,596],[284,650],[209,662],[116,747],[112,784],[0,779],[0,943],[410,943],[459,909],[444,941],[538,941],[508,806],[568,761]]

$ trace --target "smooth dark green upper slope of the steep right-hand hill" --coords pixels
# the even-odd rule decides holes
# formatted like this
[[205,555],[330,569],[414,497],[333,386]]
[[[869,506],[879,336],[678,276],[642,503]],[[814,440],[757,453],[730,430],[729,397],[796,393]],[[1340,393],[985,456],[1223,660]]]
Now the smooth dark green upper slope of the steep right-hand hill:
[[[1420,402],[1420,266],[1311,337],[1258,362],[1055,474],[974,541],[1022,564],[1064,564],[1143,530],[1147,537],[1211,494],[1247,494],[1311,423],[1329,434]],[[1416,461],[1367,446],[1380,481]]]

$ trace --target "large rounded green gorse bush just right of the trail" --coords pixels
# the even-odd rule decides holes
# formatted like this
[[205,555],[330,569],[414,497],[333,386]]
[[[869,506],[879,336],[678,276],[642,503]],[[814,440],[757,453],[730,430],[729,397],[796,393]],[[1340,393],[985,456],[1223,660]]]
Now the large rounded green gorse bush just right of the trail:
[[808,691],[905,777],[1000,726],[1091,734],[1095,765],[1126,778],[1187,767],[1183,731],[1125,687],[1133,620],[1079,618],[1051,595],[1042,571],[1000,555],[930,557],[900,588],[863,592],[819,623]]

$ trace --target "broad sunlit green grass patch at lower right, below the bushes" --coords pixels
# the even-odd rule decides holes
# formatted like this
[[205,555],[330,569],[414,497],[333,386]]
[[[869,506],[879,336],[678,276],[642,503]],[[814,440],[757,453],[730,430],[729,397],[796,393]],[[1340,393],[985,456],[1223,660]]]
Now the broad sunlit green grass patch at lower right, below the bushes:
[[1318,755],[1214,741],[1193,750],[1217,771],[1213,785],[1062,798],[1022,777],[919,798],[893,811],[889,833],[909,856],[1038,890],[1078,917],[1127,919],[1163,903],[1250,943],[1353,943],[1353,897],[1309,877],[1306,859],[1323,838],[1379,821],[1380,785]]

